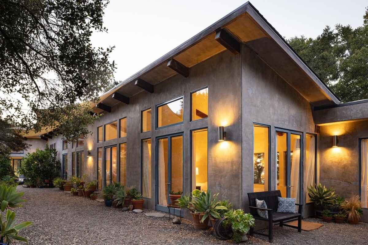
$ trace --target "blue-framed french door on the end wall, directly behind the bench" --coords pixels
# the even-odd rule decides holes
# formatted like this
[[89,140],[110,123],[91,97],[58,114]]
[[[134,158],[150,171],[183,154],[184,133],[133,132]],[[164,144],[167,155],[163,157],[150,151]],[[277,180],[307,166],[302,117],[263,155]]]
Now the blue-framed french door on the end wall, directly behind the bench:
[[276,190],[303,203],[303,134],[276,128]]

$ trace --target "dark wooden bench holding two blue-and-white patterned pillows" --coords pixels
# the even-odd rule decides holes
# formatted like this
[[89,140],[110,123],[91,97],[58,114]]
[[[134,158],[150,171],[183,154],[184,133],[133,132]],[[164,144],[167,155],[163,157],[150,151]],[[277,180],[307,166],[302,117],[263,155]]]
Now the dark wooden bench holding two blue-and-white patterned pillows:
[[[262,192],[252,192],[248,193],[249,199],[249,209],[251,215],[254,216],[256,220],[263,220],[268,222],[268,234],[263,234],[254,231],[254,228],[251,228],[249,233],[252,236],[254,233],[259,235],[264,235],[268,237],[268,241],[272,242],[272,226],[274,223],[279,223],[280,227],[287,226],[298,229],[298,232],[301,232],[301,212],[303,205],[302,204],[295,204],[299,206],[298,213],[278,213],[277,212],[277,205],[278,200],[277,197],[281,197],[280,190],[276,191],[262,191]],[[255,200],[265,200],[267,208],[257,208]],[[268,213],[268,219],[262,218],[258,215],[257,209],[266,210]],[[298,220],[298,226],[291,226],[290,224],[284,224],[285,221],[293,221]]]

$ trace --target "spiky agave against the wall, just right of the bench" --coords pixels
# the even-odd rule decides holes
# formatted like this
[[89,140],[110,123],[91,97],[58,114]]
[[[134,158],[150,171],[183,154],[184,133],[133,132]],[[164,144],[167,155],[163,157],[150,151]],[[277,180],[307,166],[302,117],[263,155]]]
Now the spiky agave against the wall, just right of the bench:
[[333,205],[335,203],[335,190],[331,187],[327,189],[325,186],[322,187],[322,184],[319,183],[314,186],[308,187],[308,196],[312,202],[316,205]]

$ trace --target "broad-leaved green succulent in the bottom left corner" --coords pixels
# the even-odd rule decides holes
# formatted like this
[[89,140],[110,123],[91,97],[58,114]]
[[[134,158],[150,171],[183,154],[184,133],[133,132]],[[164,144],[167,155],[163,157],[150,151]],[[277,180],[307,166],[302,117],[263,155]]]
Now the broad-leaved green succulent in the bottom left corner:
[[3,215],[0,214],[0,236],[4,238],[4,242],[6,243],[11,243],[11,239],[28,242],[24,237],[18,236],[18,233],[25,227],[30,226],[32,222],[27,221],[13,226],[14,219],[15,212],[9,209],[6,212],[5,220],[3,220]]

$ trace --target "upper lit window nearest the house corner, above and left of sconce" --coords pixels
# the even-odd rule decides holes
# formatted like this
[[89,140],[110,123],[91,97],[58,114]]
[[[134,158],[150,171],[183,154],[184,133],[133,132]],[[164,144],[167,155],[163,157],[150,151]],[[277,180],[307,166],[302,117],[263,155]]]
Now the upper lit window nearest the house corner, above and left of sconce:
[[191,94],[191,120],[208,117],[208,88],[203,88]]

